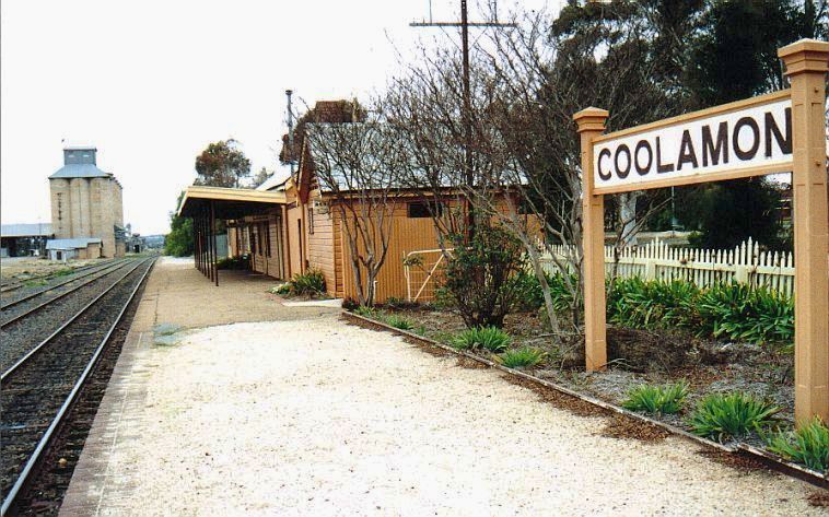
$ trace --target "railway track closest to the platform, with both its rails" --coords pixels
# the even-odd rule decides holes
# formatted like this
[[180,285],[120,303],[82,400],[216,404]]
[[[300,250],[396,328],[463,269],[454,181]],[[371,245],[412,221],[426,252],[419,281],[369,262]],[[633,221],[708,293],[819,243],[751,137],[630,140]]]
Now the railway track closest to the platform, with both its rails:
[[[128,271],[0,375],[0,515],[16,509],[49,444],[105,353],[154,258]],[[124,333],[124,330],[120,330]]]

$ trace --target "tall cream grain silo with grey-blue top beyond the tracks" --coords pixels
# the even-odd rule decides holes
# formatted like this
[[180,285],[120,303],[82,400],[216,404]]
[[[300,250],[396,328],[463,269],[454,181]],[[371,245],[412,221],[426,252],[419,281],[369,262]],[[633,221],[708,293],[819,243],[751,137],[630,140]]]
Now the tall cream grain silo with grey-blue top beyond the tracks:
[[63,167],[49,176],[51,227],[58,240],[100,239],[101,257],[122,257],[121,186],[110,173],[97,168],[96,153],[91,146],[63,149]]

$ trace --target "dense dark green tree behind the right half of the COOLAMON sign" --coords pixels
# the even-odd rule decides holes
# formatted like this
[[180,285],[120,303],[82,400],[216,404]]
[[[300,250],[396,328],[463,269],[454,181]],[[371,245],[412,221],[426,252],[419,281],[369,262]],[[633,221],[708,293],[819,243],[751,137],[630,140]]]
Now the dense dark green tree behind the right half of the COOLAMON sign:
[[[713,0],[705,2],[690,40],[684,84],[690,107],[702,109],[785,87],[778,48],[803,37],[825,37],[824,2]],[[764,178],[678,189],[677,214],[697,244],[729,248],[748,237],[770,247],[787,242],[780,190]]]

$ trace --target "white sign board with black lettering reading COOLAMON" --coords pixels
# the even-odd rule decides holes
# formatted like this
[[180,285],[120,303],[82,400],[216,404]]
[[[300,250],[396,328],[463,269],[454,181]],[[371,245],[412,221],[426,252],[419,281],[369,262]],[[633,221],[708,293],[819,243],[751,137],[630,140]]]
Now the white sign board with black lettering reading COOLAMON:
[[792,161],[792,102],[609,137],[593,146],[595,189],[646,189],[689,176],[773,168]]

